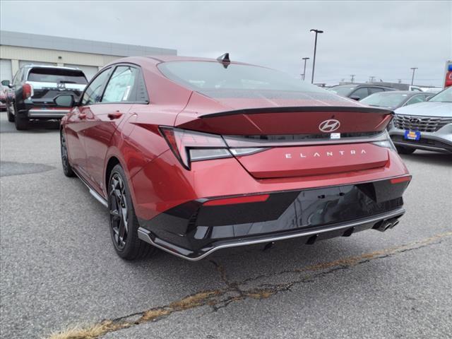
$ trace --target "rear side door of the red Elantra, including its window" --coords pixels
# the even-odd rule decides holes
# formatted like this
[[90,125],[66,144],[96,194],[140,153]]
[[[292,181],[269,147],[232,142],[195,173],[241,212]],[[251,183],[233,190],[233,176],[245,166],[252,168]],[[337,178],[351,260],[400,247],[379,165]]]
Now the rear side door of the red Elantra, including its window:
[[86,110],[88,128],[85,129],[86,164],[93,186],[103,191],[105,156],[114,131],[137,102],[137,84],[141,77],[138,66],[119,64],[105,86],[102,99]]

